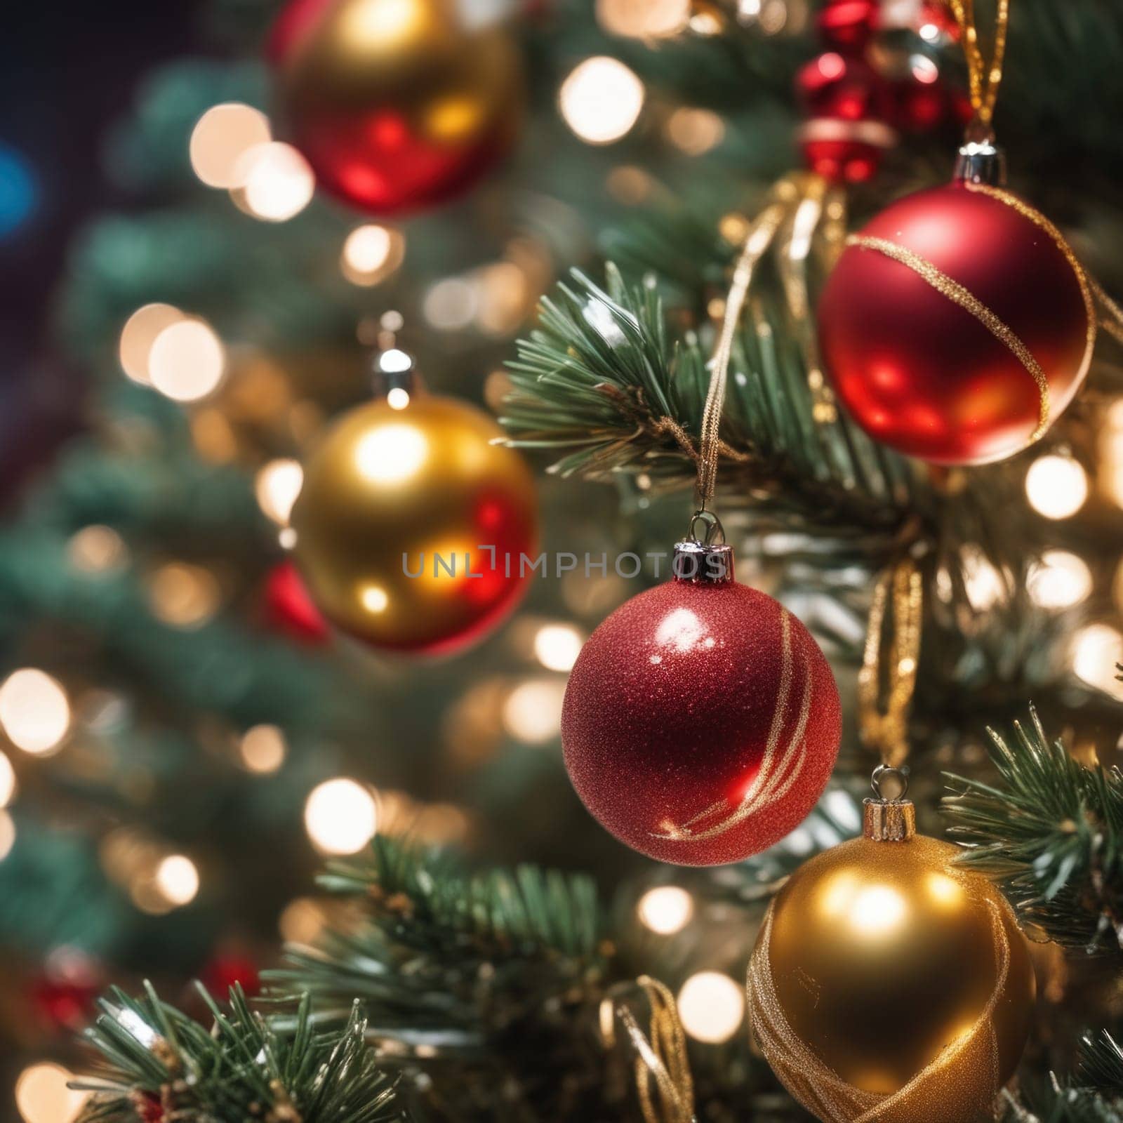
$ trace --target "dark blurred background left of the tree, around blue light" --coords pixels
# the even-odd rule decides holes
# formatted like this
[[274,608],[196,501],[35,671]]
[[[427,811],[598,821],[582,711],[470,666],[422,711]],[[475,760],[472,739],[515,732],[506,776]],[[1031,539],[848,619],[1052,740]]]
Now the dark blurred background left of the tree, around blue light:
[[[35,208],[0,236],[0,504],[81,424],[82,374],[52,347],[52,296],[77,229],[135,207],[101,167],[112,121],[165,58],[199,53],[200,0],[24,0],[0,40],[0,145],[35,179]],[[0,172],[0,174],[3,174]]]

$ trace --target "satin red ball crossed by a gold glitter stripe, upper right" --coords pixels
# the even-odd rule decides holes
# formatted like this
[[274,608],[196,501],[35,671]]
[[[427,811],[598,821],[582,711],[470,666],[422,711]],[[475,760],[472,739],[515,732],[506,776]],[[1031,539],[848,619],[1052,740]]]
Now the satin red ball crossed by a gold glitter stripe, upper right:
[[[1040,364],[1049,417],[1072,400],[1092,332],[1080,281],[1054,239],[965,184],[909,195],[861,237],[904,247],[958,282]],[[823,360],[873,437],[937,464],[983,464],[1025,448],[1040,419],[1033,376],[995,332],[909,265],[850,246],[819,307]]]

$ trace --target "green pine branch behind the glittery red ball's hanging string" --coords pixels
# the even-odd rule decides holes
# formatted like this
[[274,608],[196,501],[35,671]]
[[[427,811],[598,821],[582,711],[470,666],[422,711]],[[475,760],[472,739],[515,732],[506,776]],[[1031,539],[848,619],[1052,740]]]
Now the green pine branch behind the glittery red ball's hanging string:
[[[562,475],[646,473],[693,478],[709,372],[699,334],[674,337],[654,285],[606,289],[581,273],[545,299],[538,330],[510,364],[502,422],[512,444],[566,449]],[[767,294],[755,298],[731,364],[719,477],[756,505],[816,524],[894,530],[916,502],[912,469],[843,416],[814,416],[795,332]]]

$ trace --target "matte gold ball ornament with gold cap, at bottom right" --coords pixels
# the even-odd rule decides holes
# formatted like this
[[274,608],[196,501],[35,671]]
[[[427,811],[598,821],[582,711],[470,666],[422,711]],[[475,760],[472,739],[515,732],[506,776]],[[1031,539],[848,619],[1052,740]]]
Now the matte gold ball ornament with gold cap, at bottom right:
[[1025,1046],[1035,983],[1002,894],[866,801],[864,838],[806,862],[749,962],[752,1033],[824,1123],[979,1123]]

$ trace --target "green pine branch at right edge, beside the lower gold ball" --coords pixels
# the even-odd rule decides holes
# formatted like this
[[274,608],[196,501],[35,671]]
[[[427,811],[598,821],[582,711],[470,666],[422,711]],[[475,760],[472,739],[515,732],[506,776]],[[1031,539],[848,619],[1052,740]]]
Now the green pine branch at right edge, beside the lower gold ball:
[[1123,948],[1123,775],[1085,768],[1038,718],[1014,740],[988,730],[996,784],[950,776],[944,811],[962,860],[996,877],[1024,919],[1059,943]]

